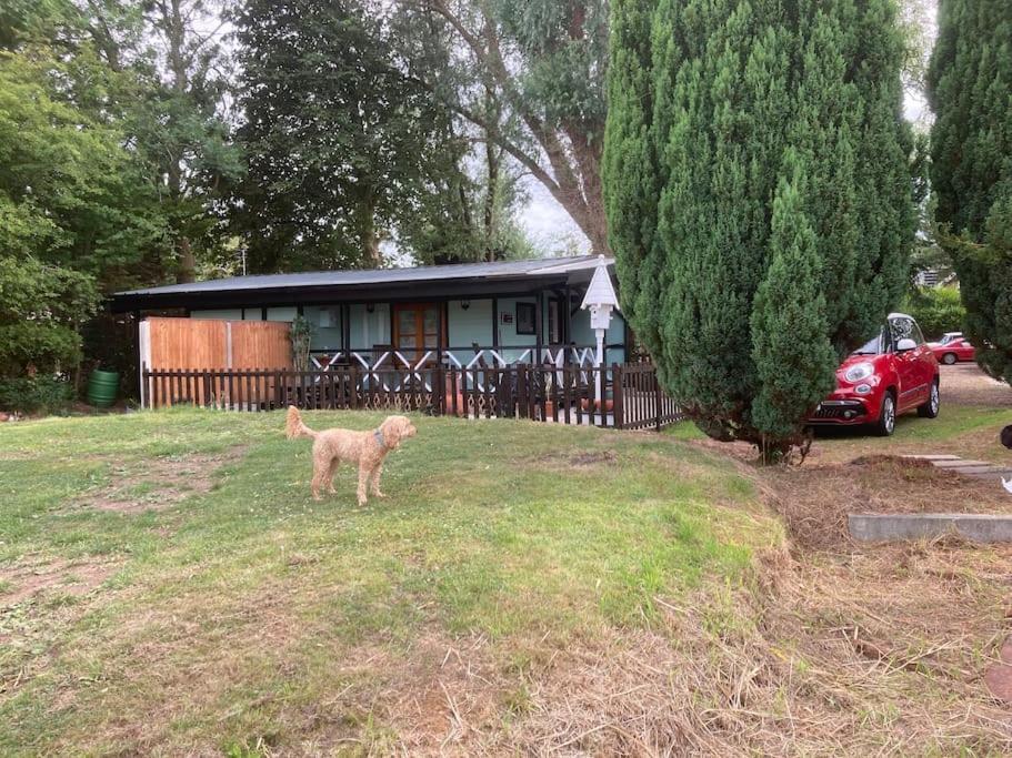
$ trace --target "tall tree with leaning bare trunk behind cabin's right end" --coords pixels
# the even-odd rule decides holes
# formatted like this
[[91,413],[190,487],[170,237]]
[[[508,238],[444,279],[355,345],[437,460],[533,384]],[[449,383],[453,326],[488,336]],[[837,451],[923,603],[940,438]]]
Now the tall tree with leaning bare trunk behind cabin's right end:
[[[608,252],[608,2],[399,0],[412,74],[541,182]],[[410,33],[409,33],[410,32]]]

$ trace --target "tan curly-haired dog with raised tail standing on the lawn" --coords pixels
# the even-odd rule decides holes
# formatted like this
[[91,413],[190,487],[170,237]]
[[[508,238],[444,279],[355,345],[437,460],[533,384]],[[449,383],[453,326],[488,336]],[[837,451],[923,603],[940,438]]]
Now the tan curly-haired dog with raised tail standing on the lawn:
[[314,499],[321,499],[320,488],[323,485],[327,485],[327,492],[331,495],[334,494],[333,475],[339,463],[357,461],[359,464],[359,505],[365,505],[367,485],[377,497],[385,497],[380,492],[383,458],[390,451],[395,451],[401,446],[401,439],[413,437],[418,429],[405,416],[387,416],[378,428],[369,432],[352,429],[313,432],[302,423],[299,408],[289,405],[284,432],[289,439],[313,438],[312,492]]

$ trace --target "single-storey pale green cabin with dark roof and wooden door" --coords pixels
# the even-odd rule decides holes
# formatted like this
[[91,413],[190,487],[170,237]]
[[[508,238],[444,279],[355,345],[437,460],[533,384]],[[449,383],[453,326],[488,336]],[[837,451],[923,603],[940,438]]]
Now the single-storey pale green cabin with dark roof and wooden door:
[[[595,363],[597,341],[581,303],[600,256],[460,263],[411,269],[234,276],[119,292],[112,310],[230,322],[311,325],[311,364],[328,368]],[[144,340],[140,340],[143,345]],[[614,312],[603,365],[627,360],[629,332]],[[144,358],[143,353],[139,356]],[[158,368],[206,368],[193,358]],[[246,366],[284,367],[248,356]],[[151,367],[149,360],[148,366]],[[233,367],[231,364],[228,367]],[[291,367],[288,364],[288,367]]]

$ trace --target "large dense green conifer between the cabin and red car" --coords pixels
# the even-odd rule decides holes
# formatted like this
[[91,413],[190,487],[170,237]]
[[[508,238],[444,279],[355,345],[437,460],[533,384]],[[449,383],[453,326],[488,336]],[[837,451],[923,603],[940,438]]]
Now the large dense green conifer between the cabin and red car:
[[611,29],[603,173],[625,315],[708,433],[782,452],[905,285],[893,2],[614,0]]

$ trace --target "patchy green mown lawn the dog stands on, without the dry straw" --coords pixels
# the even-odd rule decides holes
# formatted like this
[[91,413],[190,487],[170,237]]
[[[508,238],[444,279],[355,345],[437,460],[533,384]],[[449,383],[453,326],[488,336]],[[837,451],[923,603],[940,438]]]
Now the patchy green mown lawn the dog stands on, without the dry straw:
[[730,634],[783,543],[733,462],[661,435],[415,423],[364,508],[347,467],[310,498],[279,413],[4,426],[0,752],[514,748],[554,659],[700,598]]

